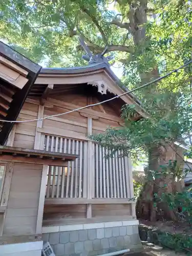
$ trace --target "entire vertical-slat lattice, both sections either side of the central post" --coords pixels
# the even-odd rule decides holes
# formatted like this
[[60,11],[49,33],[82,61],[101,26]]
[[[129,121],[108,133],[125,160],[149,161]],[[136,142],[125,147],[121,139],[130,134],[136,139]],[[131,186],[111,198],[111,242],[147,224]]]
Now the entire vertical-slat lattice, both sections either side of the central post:
[[89,186],[91,198],[130,198],[128,159],[119,157],[122,152],[107,158],[111,152],[92,142],[92,167],[89,169],[88,141],[42,136],[44,150],[79,155],[67,167],[49,166],[46,198],[87,198]]

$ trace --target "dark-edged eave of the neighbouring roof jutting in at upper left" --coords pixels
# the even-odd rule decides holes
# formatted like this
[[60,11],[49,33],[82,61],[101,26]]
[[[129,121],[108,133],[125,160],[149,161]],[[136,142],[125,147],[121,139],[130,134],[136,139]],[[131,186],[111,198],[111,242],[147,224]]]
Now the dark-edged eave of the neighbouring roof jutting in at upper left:
[[[15,121],[41,67],[0,41],[0,120]],[[13,122],[0,121],[0,145]]]

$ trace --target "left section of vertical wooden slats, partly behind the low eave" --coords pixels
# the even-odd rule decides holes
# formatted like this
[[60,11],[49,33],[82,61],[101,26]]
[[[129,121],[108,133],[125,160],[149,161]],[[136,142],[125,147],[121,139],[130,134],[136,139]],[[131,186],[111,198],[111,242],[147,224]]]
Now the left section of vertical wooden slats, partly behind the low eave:
[[83,176],[86,161],[87,142],[45,135],[46,151],[79,155],[67,167],[49,166],[47,174],[47,198],[81,198],[83,195]]

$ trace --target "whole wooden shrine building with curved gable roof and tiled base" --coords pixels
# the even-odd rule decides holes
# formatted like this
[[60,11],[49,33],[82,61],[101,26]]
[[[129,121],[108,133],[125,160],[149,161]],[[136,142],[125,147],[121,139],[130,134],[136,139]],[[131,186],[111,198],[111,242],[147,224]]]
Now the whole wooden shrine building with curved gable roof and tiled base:
[[41,69],[0,42],[0,256],[40,256],[42,241],[56,256],[140,246],[131,161],[88,137],[122,126],[123,104],[145,116],[140,102],[58,115],[126,90],[107,63]]

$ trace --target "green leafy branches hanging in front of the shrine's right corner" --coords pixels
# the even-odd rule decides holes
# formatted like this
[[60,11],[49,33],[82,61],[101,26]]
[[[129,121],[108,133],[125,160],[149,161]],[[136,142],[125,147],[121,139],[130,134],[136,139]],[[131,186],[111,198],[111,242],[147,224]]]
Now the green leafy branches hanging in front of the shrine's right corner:
[[[121,129],[109,127],[104,134],[93,135],[92,138],[114,151],[123,149],[124,155],[131,154],[135,158],[141,157],[152,144],[159,146],[176,141],[182,138],[183,134],[188,134],[192,127],[192,105],[188,104],[188,99],[182,95],[177,98],[178,103],[169,114],[158,115],[148,106],[151,117],[137,122],[130,121],[135,111],[134,106],[125,105],[122,117],[126,126]],[[167,98],[167,101],[172,101],[172,98]]]

